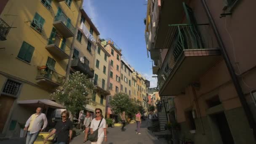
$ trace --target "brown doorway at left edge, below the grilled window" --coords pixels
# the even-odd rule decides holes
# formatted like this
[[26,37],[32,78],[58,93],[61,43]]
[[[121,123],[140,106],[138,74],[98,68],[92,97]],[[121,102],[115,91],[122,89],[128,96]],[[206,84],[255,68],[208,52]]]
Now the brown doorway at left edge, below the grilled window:
[[10,113],[11,107],[13,106],[14,100],[15,98],[12,96],[0,96],[0,133],[3,132],[3,128]]

